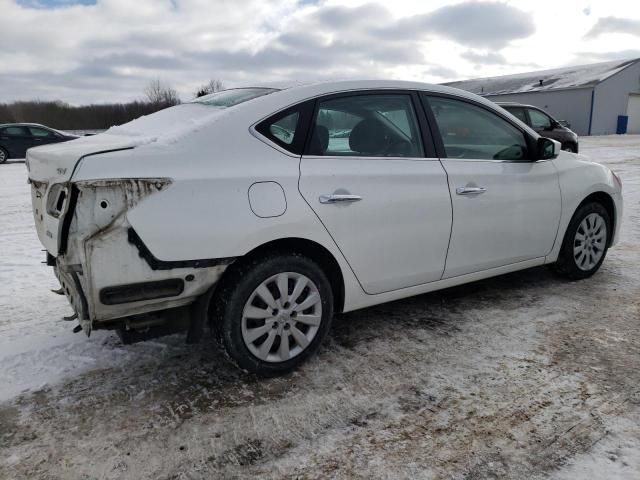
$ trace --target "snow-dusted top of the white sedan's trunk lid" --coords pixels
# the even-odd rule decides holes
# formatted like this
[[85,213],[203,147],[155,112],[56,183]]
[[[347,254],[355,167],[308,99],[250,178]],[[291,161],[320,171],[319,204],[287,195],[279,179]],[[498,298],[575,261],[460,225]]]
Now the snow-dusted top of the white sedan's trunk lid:
[[71,178],[78,161],[95,153],[167,145],[179,141],[227,114],[228,110],[201,104],[184,104],[111,127],[98,135],[43,145],[27,151],[29,178],[50,183]]

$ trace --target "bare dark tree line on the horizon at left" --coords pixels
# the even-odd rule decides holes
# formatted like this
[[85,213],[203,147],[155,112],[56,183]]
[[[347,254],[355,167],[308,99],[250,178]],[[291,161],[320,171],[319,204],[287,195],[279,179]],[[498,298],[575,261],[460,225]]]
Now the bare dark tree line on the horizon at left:
[[[211,80],[194,92],[195,97],[224,89],[220,80]],[[102,130],[122,125],[142,115],[149,115],[181,103],[170,85],[153,80],[144,90],[145,97],[128,103],[74,106],[63,101],[16,101],[0,103],[0,124],[41,123],[59,130]]]

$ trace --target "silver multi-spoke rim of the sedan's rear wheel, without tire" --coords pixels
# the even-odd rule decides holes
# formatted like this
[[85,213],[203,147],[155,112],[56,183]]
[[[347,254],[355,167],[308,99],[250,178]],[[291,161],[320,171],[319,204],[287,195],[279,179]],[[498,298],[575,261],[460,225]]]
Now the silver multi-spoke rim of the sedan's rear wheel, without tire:
[[302,353],[318,333],[322,299],[305,275],[282,272],[263,281],[242,311],[242,338],[265,362],[285,362]]

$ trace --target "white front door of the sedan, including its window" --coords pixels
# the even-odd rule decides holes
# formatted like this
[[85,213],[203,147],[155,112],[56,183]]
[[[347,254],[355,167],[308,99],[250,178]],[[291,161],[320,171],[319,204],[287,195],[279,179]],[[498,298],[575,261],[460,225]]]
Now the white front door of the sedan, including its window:
[[522,130],[466,99],[425,95],[453,202],[444,278],[546,256],[560,220],[551,161],[530,160]]

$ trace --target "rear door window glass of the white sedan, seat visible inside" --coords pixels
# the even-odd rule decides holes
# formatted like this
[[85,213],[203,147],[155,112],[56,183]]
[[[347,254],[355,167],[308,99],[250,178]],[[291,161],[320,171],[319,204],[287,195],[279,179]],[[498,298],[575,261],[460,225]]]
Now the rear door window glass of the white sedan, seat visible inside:
[[406,94],[352,95],[320,100],[310,155],[423,157],[420,130]]

